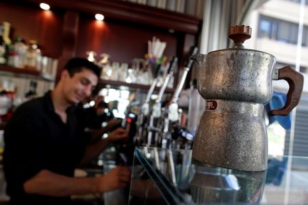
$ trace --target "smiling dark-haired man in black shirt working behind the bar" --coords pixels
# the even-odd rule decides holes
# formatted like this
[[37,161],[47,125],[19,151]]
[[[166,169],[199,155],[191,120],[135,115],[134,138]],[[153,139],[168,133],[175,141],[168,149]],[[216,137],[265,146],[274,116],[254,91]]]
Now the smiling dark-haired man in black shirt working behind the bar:
[[87,59],[70,59],[53,91],[16,109],[4,134],[3,168],[10,204],[70,204],[70,195],[112,191],[128,184],[127,167],[95,178],[73,176],[77,165],[94,159],[110,141],[127,138],[123,128],[106,139],[99,137],[103,129],[95,135],[85,132],[75,105],[92,94],[100,73],[101,68]]

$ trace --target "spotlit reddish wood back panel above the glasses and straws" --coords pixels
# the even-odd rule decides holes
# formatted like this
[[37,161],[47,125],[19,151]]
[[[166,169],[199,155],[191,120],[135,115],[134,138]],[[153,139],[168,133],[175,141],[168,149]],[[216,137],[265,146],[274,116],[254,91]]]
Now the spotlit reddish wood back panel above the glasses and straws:
[[143,58],[147,53],[148,40],[153,36],[167,42],[164,55],[177,55],[176,33],[164,29],[127,23],[119,20],[99,22],[93,16],[83,15],[80,18],[77,56],[85,57],[86,51],[108,53],[111,61],[131,62],[135,57]]

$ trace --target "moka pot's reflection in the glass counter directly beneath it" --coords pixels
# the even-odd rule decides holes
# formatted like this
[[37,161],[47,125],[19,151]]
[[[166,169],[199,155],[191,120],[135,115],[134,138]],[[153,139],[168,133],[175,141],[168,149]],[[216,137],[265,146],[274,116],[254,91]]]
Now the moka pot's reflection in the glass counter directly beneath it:
[[217,167],[196,167],[190,182],[196,204],[260,204],[266,171],[236,172]]

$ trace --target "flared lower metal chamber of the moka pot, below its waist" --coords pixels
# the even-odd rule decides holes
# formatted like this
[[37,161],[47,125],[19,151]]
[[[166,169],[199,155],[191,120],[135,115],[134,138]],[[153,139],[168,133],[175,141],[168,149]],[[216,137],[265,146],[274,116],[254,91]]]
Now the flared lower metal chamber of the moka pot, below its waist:
[[199,123],[192,158],[195,162],[258,172],[266,170],[268,140],[262,119],[264,106],[251,102],[215,100]]

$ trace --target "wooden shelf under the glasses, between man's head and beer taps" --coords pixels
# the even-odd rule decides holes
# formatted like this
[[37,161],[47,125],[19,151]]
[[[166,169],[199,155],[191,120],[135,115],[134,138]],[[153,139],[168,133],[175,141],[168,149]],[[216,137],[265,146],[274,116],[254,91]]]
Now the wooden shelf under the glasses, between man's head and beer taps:
[[[150,89],[151,85],[142,85],[142,84],[136,84],[136,83],[125,83],[120,81],[107,81],[107,80],[100,80],[99,81],[100,87],[106,87],[110,85],[111,87],[120,88],[123,87],[124,90],[144,90],[144,92],[147,92]],[[155,91],[159,91],[160,87],[155,87]],[[166,93],[174,93],[175,89],[173,88],[167,88]]]

